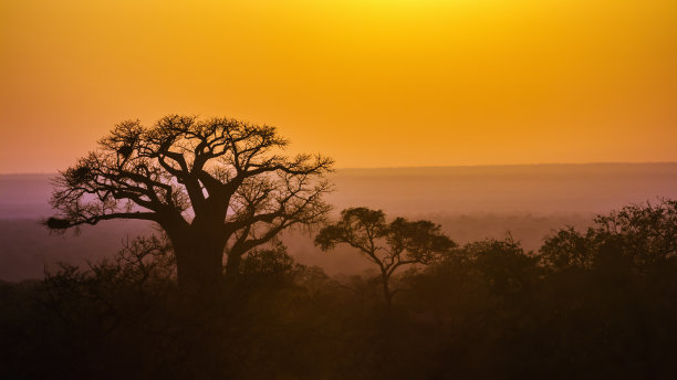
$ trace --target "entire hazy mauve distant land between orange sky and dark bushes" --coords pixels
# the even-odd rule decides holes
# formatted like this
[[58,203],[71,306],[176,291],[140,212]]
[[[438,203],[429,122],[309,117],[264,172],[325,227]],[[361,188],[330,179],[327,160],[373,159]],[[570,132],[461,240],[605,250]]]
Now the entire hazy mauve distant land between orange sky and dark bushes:
[[[127,236],[152,233],[133,221],[86,226],[77,236],[51,236],[38,220],[54,175],[0,175],[0,279],[40,277],[45,263],[83,263],[113,254]],[[367,205],[389,215],[442,224],[459,243],[503,238],[525,247],[565,224],[585,226],[595,213],[624,204],[677,198],[677,163],[593,163],[446,168],[341,169],[327,200],[337,212]],[[364,262],[350,250],[320,253],[303,234],[285,234],[296,258],[330,273],[355,273]]]

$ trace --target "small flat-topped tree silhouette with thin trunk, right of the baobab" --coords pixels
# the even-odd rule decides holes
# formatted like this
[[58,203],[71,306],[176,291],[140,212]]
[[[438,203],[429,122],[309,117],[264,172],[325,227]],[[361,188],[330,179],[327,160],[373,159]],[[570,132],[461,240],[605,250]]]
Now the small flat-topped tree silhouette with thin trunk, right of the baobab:
[[357,249],[378,266],[388,308],[396,293],[390,289],[389,282],[398,267],[429,264],[456,246],[433,222],[397,218],[386,223],[383,211],[367,208],[343,210],[338,222],[324,226],[315,236],[315,245],[323,251],[340,243]]

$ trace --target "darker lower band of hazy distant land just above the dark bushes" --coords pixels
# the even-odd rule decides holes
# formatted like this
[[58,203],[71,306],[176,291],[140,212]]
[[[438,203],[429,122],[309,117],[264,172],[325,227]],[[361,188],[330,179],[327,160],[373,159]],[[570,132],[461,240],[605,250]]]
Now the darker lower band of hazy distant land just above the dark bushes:
[[[1,211],[0,211],[1,215]],[[485,238],[502,238],[507,230],[520,240],[528,250],[538,250],[543,236],[561,225],[587,226],[594,214],[406,214],[408,218],[426,219],[441,224],[442,230],[457,243],[472,242]],[[97,262],[111,257],[121,247],[125,236],[152,234],[152,223],[144,221],[113,220],[98,225],[84,225],[77,235],[55,235],[44,229],[39,220],[0,219],[0,279],[18,282],[42,278],[46,264],[58,262],[73,265]],[[337,246],[331,254],[319,254],[313,239],[303,231],[285,231],[280,239],[289,252],[302,264],[319,265],[327,274],[362,273],[368,263],[346,246]]]

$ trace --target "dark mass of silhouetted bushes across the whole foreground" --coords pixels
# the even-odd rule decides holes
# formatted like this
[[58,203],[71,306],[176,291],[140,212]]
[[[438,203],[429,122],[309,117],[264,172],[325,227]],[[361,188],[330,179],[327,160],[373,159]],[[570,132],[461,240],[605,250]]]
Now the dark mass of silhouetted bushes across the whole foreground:
[[[452,236],[451,236],[452,238]],[[539,252],[479,241],[390,278],[330,278],[281,244],[210,303],[164,240],[0,284],[4,379],[494,379],[677,376],[677,201],[629,205]],[[331,253],[327,253],[331,254]],[[199,306],[198,306],[199,305]]]

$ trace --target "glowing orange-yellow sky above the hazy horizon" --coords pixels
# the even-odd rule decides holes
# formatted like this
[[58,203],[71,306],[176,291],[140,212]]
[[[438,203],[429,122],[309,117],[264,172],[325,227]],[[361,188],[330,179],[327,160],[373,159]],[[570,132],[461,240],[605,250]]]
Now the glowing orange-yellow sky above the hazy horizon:
[[0,0],[0,172],[169,113],[337,167],[676,161],[677,1]]

